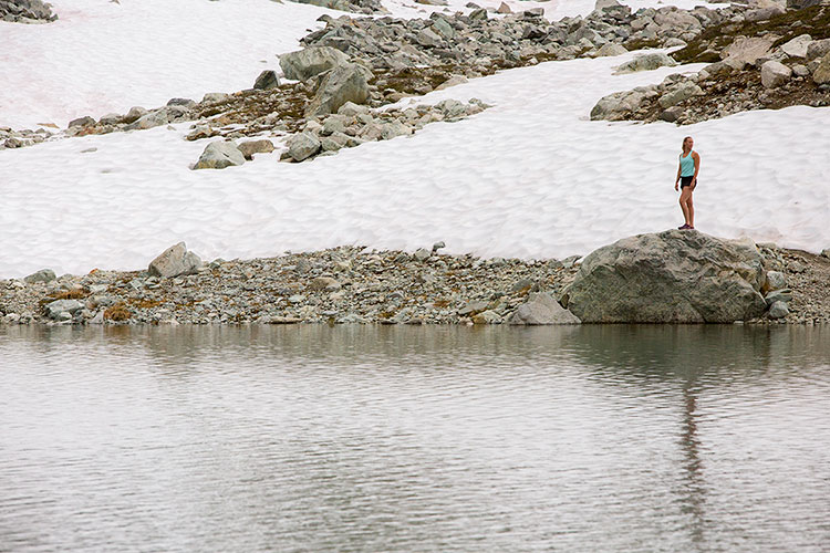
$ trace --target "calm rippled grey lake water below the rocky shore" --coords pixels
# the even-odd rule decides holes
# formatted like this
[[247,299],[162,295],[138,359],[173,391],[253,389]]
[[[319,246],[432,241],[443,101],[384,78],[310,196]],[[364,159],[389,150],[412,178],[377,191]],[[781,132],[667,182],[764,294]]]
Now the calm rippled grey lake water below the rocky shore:
[[0,551],[830,551],[830,328],[0,327]]

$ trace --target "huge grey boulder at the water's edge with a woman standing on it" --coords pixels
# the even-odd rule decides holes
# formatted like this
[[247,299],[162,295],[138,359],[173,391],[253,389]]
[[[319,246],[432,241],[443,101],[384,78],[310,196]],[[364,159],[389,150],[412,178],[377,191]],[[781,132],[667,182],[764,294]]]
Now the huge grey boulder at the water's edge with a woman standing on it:
[[764,313],[765,278],[750,240],[667,230],[593,251],[561,301],[583,323],[732,323]]

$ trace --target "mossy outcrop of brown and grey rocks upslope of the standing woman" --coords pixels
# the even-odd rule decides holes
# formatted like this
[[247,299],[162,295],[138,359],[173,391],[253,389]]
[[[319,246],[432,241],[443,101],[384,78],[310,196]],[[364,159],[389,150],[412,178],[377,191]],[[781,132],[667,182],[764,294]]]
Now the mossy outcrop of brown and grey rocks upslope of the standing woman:
[[830,6],[749,10],[707,28],[672,56],[710,63],[610,94],[591,118],[693,124],[751,109],[830,106]]

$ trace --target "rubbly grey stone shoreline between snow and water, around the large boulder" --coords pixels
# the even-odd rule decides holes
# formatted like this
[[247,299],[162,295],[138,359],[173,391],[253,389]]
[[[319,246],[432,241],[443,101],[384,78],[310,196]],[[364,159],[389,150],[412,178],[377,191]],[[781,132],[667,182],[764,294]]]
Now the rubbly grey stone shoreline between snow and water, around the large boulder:
[[[635,238],[642,237],[685,240],[696,249],[702,248],[701,240],[714,240],[681,231]],[[737,272],[755,271],[757,293],[749,292],[766,310],[753,312],[746,323],[830,323],[830,250],[816,255],[775,244],[739,246],[755,255],[757,267],[740,265]],[[25,279],[0,280],[0,324],[579,323],[558,303],[567,305],[570,295],[574,307],[580,286],[572,284],[585,272],[578,255],[564,260],[480,259],[442,254],[443,247],[438,242],[415,252],[341,247],[203,263],[180,243],[154,260],[147,271],[95,269],[84,275],[56,278],[42,270]],[[596,264],[595,253],[585,258],[588,264]],[[730,257],[733,253],[724,255]],[[684,258],[683,262],[687,261]],[[713,272],[708,265],[701,271]],[[625,276],[625,282],[633,281]],[[738,295],[726,279],[709,284]],[[699,283],[694,286],[702,288]],[[600,293],[595,284],[581,288]],[[632,291],[642,303],[641,292]],[[678,294],[688,295],[682,290]],[[647,303],[647,298],[644,301]],[[588,316],[587,311],[579,312]],[[670,321],[695,321],[672,316]],[[608,319],[587,322],[603,320]],[[716,316],[706,320],[718,321]]]

